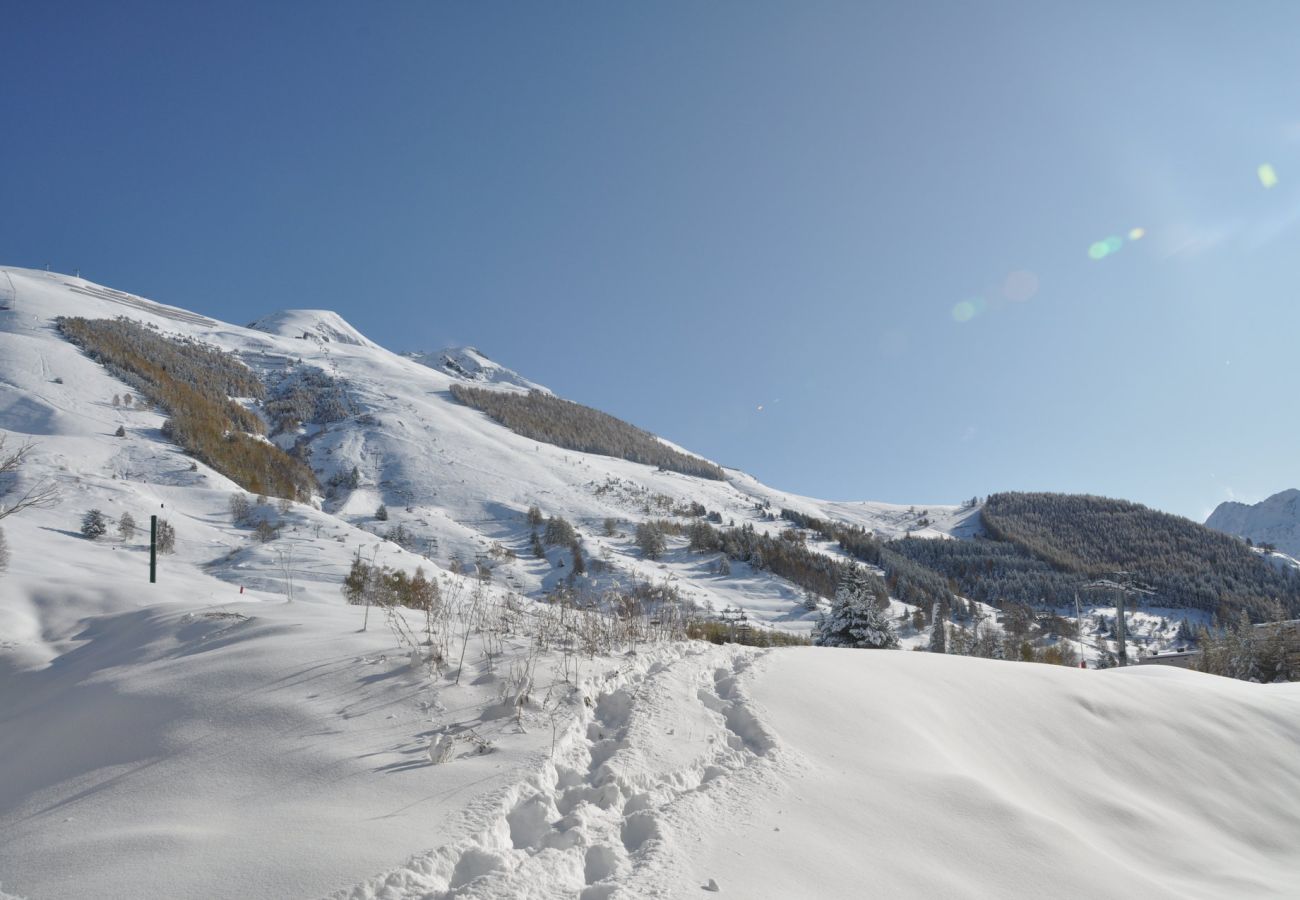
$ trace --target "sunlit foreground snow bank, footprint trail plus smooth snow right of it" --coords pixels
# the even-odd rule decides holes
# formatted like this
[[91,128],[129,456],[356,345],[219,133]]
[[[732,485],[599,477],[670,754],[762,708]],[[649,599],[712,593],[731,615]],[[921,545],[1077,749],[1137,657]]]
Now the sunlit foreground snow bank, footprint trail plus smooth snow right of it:
[[334,896],[1284,897],[1300,879],[1296,685],[699,648],[619,670],[589,709],[476,832]]

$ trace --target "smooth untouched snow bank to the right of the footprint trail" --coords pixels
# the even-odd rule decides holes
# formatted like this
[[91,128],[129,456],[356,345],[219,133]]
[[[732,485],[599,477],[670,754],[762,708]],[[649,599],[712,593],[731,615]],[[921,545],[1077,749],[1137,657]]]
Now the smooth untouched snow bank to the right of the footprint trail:
[[[790,649],[763,789],[689,823],[734,896],[1294,896],[1297,685]],[[698,844],[696,841],[699,841]],[[688,874],[689,873],[689,874]]]

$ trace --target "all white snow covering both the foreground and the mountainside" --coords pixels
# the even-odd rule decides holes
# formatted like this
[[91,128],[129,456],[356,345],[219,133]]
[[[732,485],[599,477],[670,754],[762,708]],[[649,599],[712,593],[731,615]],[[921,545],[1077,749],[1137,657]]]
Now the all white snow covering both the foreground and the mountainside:
[[[508,633],[456,619],[458,683],[455,659],[412,661],[381,610],[361,631],[365,611],[339,594],[360,551],[422,566],[462,598],[474,584],[455,564],[482,561],[484,602],[540,600],[568,551],[532,558],[537,503],[607,570],[588,576],[594,594],[668,581],[807,632],[793,585],[742,563],[715,575],[680,538],[642,559],[634,524],[666,498],[767,533],[786,525],[768,509],[788,506],[944,540],[978,510],[819,501],[734,470],[710,481],[538,445],[450,398],[467,376],[330,312],[240,328],[70,276],[0,273],[0,434],[35,443],[20,488],[62,494],[3,522],[0,896],[1294,895],[1295,685],[822,648],[590,657],[537,650],[556,607],[532,601]],[[113,406],[131,389],[57,337],[60,315],[129,315],[269,376],[299,359],[329,373],[355,415],[304,429],[312,462],[325,477],[355,466],[360,486],[272,501],[259,512],[281,537],[256,542],[230,522],[237,485],[166,443],[157,411]],[[473,352],[458,359],[484,384],[532,385]],[[176,527],[157,584],[140,535],[77,532],[92,507]],[[411,550],[378,535],[399,524]],[[1134,613],[1130,629],[1164,640],[1176,622],[1160,618]]]

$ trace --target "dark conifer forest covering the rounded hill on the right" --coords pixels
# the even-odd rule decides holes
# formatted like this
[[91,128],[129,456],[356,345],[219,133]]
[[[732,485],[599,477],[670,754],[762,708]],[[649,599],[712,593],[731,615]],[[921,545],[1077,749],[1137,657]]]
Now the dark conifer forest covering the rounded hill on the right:
[[1205,610],[1235,622],[1300,615],[1300,575],[1268,564],[1243,541],[1139,503],[1082,494],[1001,493],[971,540],[881,541],[862,528],[792,510],[783,516],[881,567],[890,593],[941,602],[948,592],[984,603],[1060,607],[1118,572],[1149,589],[1143,602]]

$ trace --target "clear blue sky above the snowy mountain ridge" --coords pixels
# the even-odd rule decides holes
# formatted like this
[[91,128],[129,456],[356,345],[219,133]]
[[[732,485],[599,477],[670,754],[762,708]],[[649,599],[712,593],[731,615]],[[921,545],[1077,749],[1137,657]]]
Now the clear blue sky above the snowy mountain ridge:
[[1300,4],[4,20],[0,263],[473,343],[814,496],[1300,485]]

